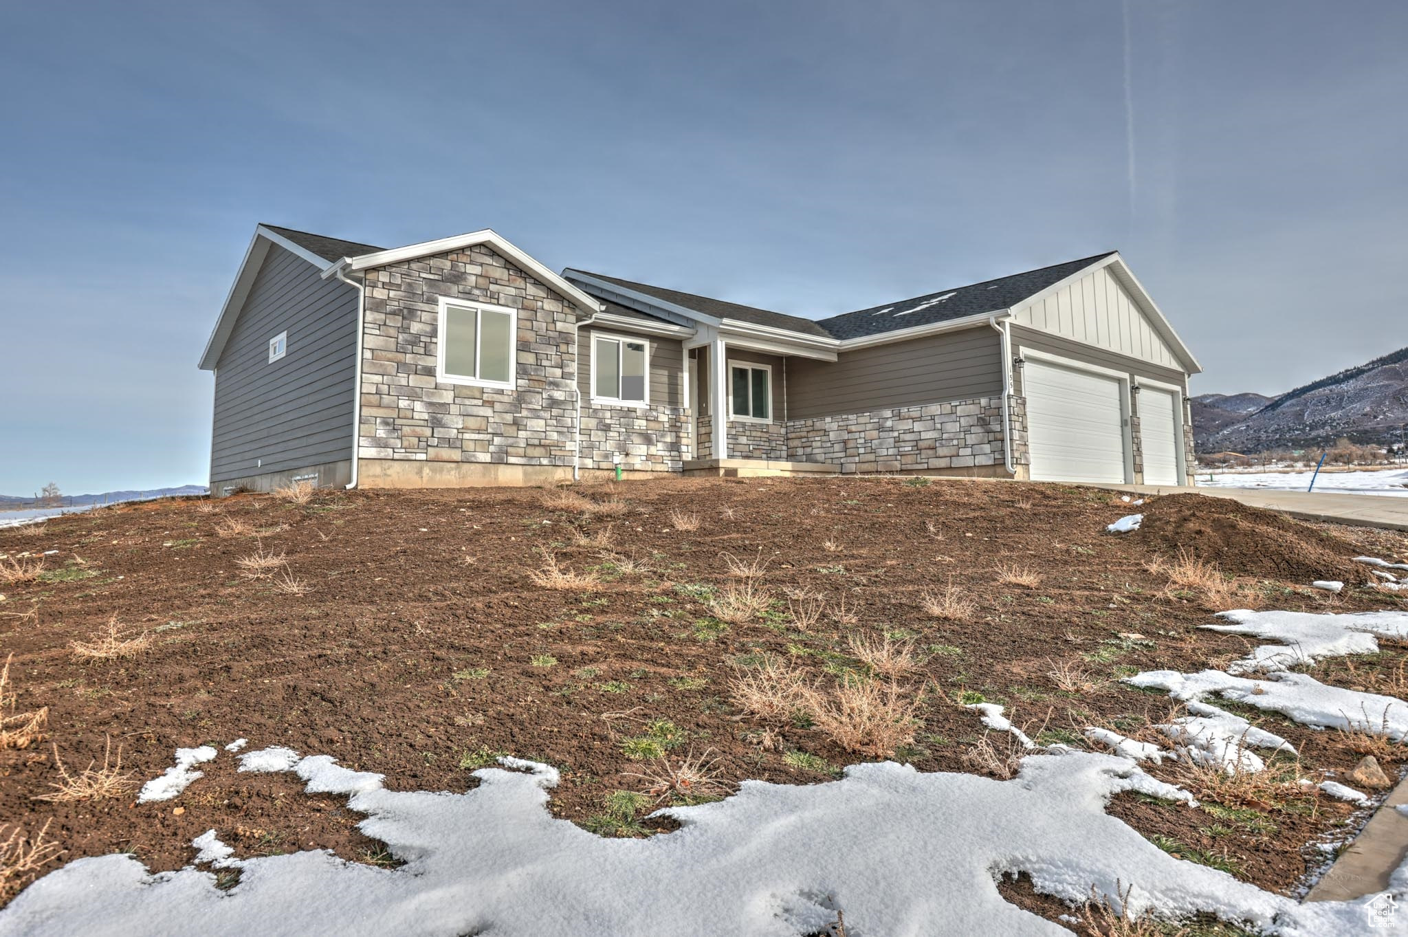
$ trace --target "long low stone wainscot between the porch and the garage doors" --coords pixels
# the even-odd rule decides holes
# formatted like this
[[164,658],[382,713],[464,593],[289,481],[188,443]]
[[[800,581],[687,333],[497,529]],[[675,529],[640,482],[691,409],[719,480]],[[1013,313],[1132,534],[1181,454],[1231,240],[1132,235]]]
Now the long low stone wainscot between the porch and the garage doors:
[[[1022,414],[1025,450],[1025,408]],[[922,471],[1002,464],[1002,398],[897,407],[787,423],[794,461],[825,461],[841,471]]]

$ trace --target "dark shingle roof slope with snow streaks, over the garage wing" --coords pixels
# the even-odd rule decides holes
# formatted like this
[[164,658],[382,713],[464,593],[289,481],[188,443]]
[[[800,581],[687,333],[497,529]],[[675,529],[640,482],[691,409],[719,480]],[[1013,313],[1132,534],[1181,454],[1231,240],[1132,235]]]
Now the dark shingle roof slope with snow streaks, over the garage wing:
[[926,293],[912,300],[872,305],[856,312],[845,312],[834,315],[829,319],[821,319],[818,325],[826,329],[828,335],[838,339],[852,339],[893,332],[895,329],[908,329],[917,325],[962,319],[963,317],[980,315],[983,312],[1000,312],[1112,253],[1115,252],[1107,250],[1093,257],[1067,260],[1066,263],[1041,267],[1039,270],[1026,270],[1025,273],[1014,273],[1010,277],[998,277],[997,280],[984,280],[983,283],[973,283],[952,290]]

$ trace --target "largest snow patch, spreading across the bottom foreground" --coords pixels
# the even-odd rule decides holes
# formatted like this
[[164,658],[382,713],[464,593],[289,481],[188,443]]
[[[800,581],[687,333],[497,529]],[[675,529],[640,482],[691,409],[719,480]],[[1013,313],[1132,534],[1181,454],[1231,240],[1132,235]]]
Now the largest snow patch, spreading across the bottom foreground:
[[[1349,937],[1378,898],[1300,905],[1174,858],[1105,813],[1112,795],[1152,781],[1115,756],[1029,756],[1011,781],[894,763],[817,785],[745,781],[725,801],[662,810],[681,829],[643,840],[553,817],[556,772],[511,767],[527,772],[479,770],[465,793],[401,792],[313,756],[296,768],[308,789],[356,786],[348,806],[366,815],[362,831],[404,865],[325,850],[234,860],[206,834],[201,854],[241,871],[228,893],[194,867],[152,875],[130,855],[89,857],[0,910],[0,936],[777,937],[819,930],[838,907],[877,936],[1066,934],[998,893],[998,877],[1025,872],[1071,903],[1093,888],[1118,902],[1124,886],[1132,914],[1208,912],[1278,937]],[[1390,889],[1408,896],[1408,865]]]

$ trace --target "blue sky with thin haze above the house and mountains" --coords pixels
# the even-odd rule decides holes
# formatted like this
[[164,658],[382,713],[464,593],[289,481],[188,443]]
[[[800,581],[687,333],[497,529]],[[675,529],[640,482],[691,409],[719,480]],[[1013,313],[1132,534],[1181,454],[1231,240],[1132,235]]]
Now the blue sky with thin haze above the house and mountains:
[[259,221],[818,318],[1117,248],[1194,393],[1408,345],[1398,0],[0,10],[0,494],[204,483]]

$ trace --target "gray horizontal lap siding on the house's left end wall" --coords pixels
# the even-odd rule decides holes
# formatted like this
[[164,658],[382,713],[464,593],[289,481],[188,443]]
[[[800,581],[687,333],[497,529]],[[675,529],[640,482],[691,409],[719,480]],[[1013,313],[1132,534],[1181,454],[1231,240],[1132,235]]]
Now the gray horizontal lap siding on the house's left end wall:
[[211,488],[351,459],[355,378],[356,290],[270,246],[215,364]]

